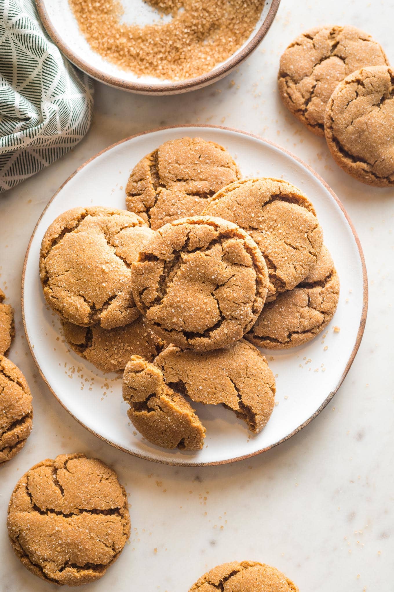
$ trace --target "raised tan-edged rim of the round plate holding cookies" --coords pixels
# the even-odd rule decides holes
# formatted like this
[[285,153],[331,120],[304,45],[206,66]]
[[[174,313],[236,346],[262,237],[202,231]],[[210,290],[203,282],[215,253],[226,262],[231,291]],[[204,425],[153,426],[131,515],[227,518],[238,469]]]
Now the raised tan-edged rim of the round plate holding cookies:
[[[341,211],[343,212],[344,217],[346,218],[347,222],[349,223],[350,229],[353,233],[354,236],[354,240],[356,241],[357,244],[357,249],[359,249],[359,254],[360,254],[360,259],[362,262],[362,268],[363,268],[363,309],[362,309],[362,315],[361,315],[361,320],[360,320],[360,325],[359,325],[359,330],[357,331],[357,337],[356,337],[356,342],[354,343],[354,347],[353,350],[351,351],[350,354],[350,358],[346,363],[346,368],[344,369],[344,372],[340,378],[340,380],[338,381],[338,384],[336,385],[336,387],[330,392],[330,394],[328,395],[328,397],[325,399],[325,401],[323,401],[323,403],[321,404],[321,406],[317,409],[317,411],[315,411],[315,413],[307,420],[305,420],[304,423],[301,424],[301,426],[298,426],[295,430],[293,430],[290,434],[288,434],[288,436],[282,438],[281,440],[278,440],[278,442],[273,443],[271,446],[266,446],[266,448],[262,448],[259,451],[256,452],[252,452],[250,454],[244,455],[244,456],[237,456],[237,458],[230,458],[227,459],[226,461],[216,461],[216,462],[188,462],[187,464],[185,464],[184,462],[181,461],[162,461],[159,459],[155,459],[155,458],[151,458],[148,455],[145,454],[138,454],[136,452],[130,452],[128,450],[126,450],[125,448],[123,448],[122,446],[118,446],[116,444],[114,444],[113,442],[110,442],[110,440],[107,440],[105,437],[100,436],[99,434],[97,434],[97,432],[95,432],[94,430],[90,429],[89,427],[87,427],[83,422],[81,422],[77,417],[75,417],[73,415],[73,413],[71,413],[71,411],[64,405],[63,401],[61,401],[57,395],[56,392],[54,392],[52,390],[52,388],[50,387],[50,385],[48,384],[47,379],[45,378],[45,375],[43,374],[43,371],[40,368],[40,365],[37,362],[37,359],[35,358],[34,355],[34,351],[32,349],[30,340],[29,340],[29,336],[27,334],[27,330],[26,330],[26,320],[25,320],[25,311],[24,311],[24,279],[25,279],[25,269],[26,269],[26,265],[27,265],[27,258],[29,255],[29,251],[30,251],[30,245],[32,242],[32,239],[34,237],[35,231],[37,230],[38,224],[40,224],[41,218],[43,217],[43,215],[45,214],[45,211],[47,210],[47,208],[49,207],[51,201],[54,200],[54,198],[56,197],[56,195],[58,194],[58,192],[63,189],[64,185],[66,185],[70,179],[73,178],[74,175],[76,175],[80,170],[82,170],[84,168],[84,166],[89,165],[89,163],[97,158],[97,156],[100,156],[102,154],[104,154],[105,152],[108,152],[108,150],[112,149],[115,146],[119,146],[119,144],[122,144],[123,142],[126,142],[128,140],[132,140],[133,138],[136,138],[138,136],[145,136],[145,134],[150,134],[152,132],[155,131],[162,131],[162,130],[172,130],[175,128],[186,128],[186,127],[202,127],[202,128],[212,128],[212,129],[216,129],[216,130],[227,130],[227,131],[235,131],[236,133],[239,134],[243,134],[244,136],[250,136],[252,138],[256,138],[260,141],[263,141],[265,144],[269,144],[269,146],[273,146],[274,148],[281,150],[281,152],[284,152],[286,155],[291,156],[294,160],[297,160],[297,162],[299,162],[302,166],[304,166],[306,169],[308,169],[312,175],[315,176],[315,178],[318,179],[318,181],[321,182],[321,184],[324,185],[324,187],[327,189],[327,191],[330,192],[330,194],[333,196],[334,200],[337,202],[338,206],[340,207]],[[318,414],[320,413],[320,411],[323,411],[324,407],[330,403],[331,399],[334,397],[334,394],[336,394],[338,388],[340,387],[340,385],[342,384],[342,382],[344,381],[344,378],[346,377],[347,373],[349,372],[350,366],[353,363],[353,360],[356,356],[357,350],[360,347],[360,343],[363,337],[363,333],[364,333],[364,328],[365,328],[365,323],[366,323],[366,318],[367,318],[367,308],[368,308],[368,281],[367,281],[367,269],[365,266],[365,260],[364,260],[364,254],[363,254],[363,249],[362,246],[360,244],[360,239],[357,236],[357,232],[356,229],[353,226],[353,223],[351,222],[349,215],[347,215],[347,212],[345,210],[345,208],[343,207],[343,205],[341,204],[341,201],[338,199],[338,197],[336,196],[336,194],[334,194],[333,190],[331,189],[331,187],[329,185],[327,185],[327,183],[324,181],[324,179],[321,178],[320,175],[318,175],[309,165],[307,165],[303,160],[299,159],[297,156],[294,156],[291,152],[289,152],[288,150],[286,150],[285,148],[282,148],[281,146],[278,146],[278,144],[275,144],[274,142],[271,142],[270,140],[265,140],[264,138],[262,138],[261,136],[257,136],[256,134],[250,134],[247,131],[241,131],[241,130],[237,130],[236,128],[232,128],[232,127],[224,127],[224,126],[209,126],[209,125],[203,125],[203,124],[189,124],[187,126],[167,126],[167,127],[159,127],[157,129],[154,130],[148,130],[148,131],[143,131],[140,134],[134,134],[133,136],[129,136],[128,138],[125,138],[123,140],[120,140],[119,142],[116,142],[115,144],[112,144],[112,146],[108,146],[107,148],[105,148],[104,150],[101,150],[101,152],[97,153],[95,156],[92,156],[92,158],[90,158],[89,160],[86,160],[85,163],[83,163],[83,165],[81,165],[79,168],[77,168],[72,175],[69,176],[68,179],[66,179],[66,181],[64,181],[64,183],[58,188],[58,190],[56,191],[56,193],[53,195],[53,197],[51,197],[50,201],[48,201],[47,205],[44,208],[43,213],[40,215],[40,218],[38,218],[37,224],[34,227],[34,230],[32,232],[28,247],[27,247],[27,251],[26,251],[26,255],[25,255],[25,260],[24,260],[24,264],[23,264],[23,269],[22,269],[22,285],[21,285],[21,305],[22,305],[22,320],[23,320],[23,327],[25,330],[25,335],[26,335],[26,339],[27,339],[27,343],[30,349],[30,353],[32,355],[32,358],[34,359],[35,365],[38,368],[38,372],[40,372],[41,378],[43,378],[43,381],[45,382],[45,384],[47,385],[47,387],[49,388],[49,390],[51,391],[51,393],[54,395],[54,397],[56,397],[56,399],[58,400],[58,402],[61,404],[62,407],[64,407],[64,409],[66,409],[66,411],[68,411],[70,413],[70,415],[78,422],[80,423],[88,432],[94,434],[95,436],[97,436],[98,438],[100,438],[100,440],[104,440],[104,442],[107,442],[108,444],[110,444],[111,446],[114,446],[114,448],[118,448],[119,450],[123,451],[123,452],[127,452],[128,454],[131,454],[132,456],[138,456],[139,458],[142,458],[146,461],[151,461],[151,462],[158,462],[159,464],[164,464],[164,465],[176,465],[176,466],[210,466],[210,465],[225,465],[229,462],[236,462],[236,461],[243,461],[246,458],[251,458],[252,456],[256,456],[258,454],[261,454],[262,452],[266,452],[268,450],[270,450],[271,448],[274,448],[275,446],[278,446],[278,444],[281,444],[282,442],[285,442],[285,440],[288,440],[289,438],[291,438],[292,436],[294,436],[295,434],[297,434],[298,432],[301,432],[302,428],[307,426],[308,423],[310,423],[313,419],[315,419],[315,417],[318,416]]]

